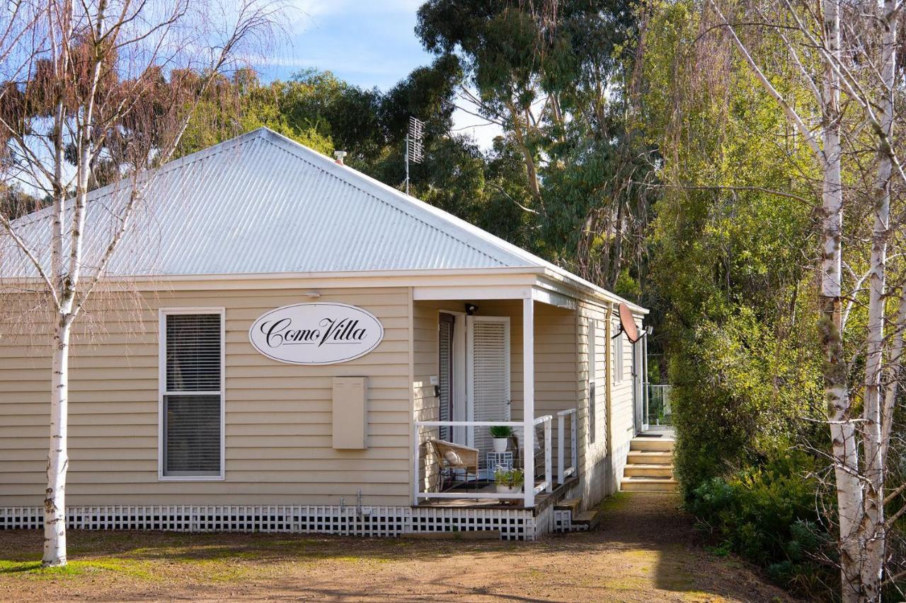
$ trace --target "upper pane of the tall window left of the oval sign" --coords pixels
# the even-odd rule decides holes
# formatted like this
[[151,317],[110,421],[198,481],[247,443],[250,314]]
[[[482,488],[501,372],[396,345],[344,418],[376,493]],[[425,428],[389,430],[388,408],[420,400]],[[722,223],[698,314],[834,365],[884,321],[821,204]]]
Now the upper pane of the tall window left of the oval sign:
[[220,390],[220,315],[167,316],[167,391]]

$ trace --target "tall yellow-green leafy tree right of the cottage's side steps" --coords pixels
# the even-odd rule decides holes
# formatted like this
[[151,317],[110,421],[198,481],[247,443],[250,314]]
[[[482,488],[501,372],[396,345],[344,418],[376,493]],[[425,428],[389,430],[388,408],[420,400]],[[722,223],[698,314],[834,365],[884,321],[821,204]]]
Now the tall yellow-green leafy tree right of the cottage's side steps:
[[670,158],[651,232],[651,295],[687,494],[731,466],[804,443],[803,419],[823,413],[812,297],[803,294],[811,273],[802,250],[815,246],[810,207],[767,192],[810,191],[778,144],[783,116],[745,68],[688,92],[699,77],[687,54],[698,34],[690,8],[654,15],[644,63],[646,132]]

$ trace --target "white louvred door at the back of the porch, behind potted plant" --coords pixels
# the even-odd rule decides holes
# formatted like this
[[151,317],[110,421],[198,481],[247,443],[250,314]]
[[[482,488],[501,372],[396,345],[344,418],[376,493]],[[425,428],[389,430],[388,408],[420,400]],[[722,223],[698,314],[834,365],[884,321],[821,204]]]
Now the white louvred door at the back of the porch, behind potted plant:
[[[468,399],[475,421],[510,420],[509,318],[468,317]],[[483,469],[493,445],[487,427],[475,427],[472,444]]]

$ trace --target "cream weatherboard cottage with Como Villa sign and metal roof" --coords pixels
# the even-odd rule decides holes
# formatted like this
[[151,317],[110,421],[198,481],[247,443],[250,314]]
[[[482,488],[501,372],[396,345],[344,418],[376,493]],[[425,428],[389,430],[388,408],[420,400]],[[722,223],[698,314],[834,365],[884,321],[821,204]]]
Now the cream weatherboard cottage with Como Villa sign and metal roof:
[[[95,232],[128,184],[92,194]],[[40,240],[48,221],[16,228]],[[0,527],[38,527],[48,329],[9,243]],[[101,248],[87,242],[86,265]],[[572,513],[619,487],[641,428],[641,349],[624,327],[645,312],[255,130],[159,170],[78,323],[69,523],[507,539],[581,527]],[[495,425],[513,429],[504,453]],[[498,468],[521,468],[523,490],[496,493]]]

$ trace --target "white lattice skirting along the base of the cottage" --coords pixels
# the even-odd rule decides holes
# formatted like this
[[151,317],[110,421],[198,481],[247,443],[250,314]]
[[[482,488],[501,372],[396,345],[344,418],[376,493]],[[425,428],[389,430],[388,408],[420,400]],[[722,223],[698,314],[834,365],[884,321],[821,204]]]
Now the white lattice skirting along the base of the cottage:
[[[264,531],[399,536],[409,533],[500,531],[506,541],[534,541],[554,530],[554,512],[438,507],[321,505],[106,505],[70,507],[74,530]],[[41,507],[0,507],[0,530],[43,527]]]

